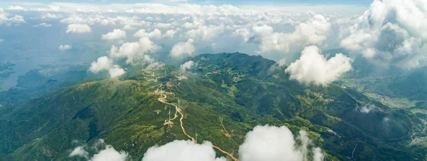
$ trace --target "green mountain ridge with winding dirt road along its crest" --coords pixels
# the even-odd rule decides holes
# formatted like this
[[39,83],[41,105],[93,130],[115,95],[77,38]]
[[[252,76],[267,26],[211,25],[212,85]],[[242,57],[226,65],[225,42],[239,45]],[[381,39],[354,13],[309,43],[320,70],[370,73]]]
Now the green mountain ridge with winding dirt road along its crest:
[[[79,160],[68,157],[76,147],[72,142],[98,139],[141,160],[153,145],[187,140],[179,118],[164,125],[169,108],[176,111],[159,102],[159,85],[167,103],[180,101],[186,133],[198,133],[199,142],[210,141],[235,157],[245,134],[268,124],[286,125],[294,134],[307,130],[327,153],[325,160],[426,160],[427,145],[411,144],[426,137],[425,125],[408,110],[337,85],[290,81],[286,66],[260,56],[201,54],[186,61],[196,66],[181,73],[154,63],[14,107],[0,116],[1,160]],[[364,105],[374,108],[362,113],[358,107]]]

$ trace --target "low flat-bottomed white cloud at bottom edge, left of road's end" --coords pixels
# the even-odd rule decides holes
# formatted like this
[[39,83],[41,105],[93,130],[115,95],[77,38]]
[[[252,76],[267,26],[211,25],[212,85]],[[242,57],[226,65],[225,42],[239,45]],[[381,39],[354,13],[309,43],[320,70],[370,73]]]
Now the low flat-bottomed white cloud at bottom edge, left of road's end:
[[196,144],[190,140],[175,140],[160,147],[150,147],[145,152],[142,161],[226,161],[223,157],[216,157],[211,142]]

